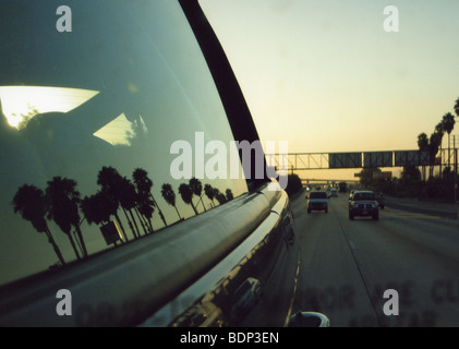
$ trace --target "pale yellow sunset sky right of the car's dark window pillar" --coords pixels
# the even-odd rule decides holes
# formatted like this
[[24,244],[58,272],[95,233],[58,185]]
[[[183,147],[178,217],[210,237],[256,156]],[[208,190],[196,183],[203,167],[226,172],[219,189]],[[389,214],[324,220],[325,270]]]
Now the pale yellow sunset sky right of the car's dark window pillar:
[[[262,141],[287,140],[290,153],[416,149],[418,135],[454,111],[458,1],[201,4]],[[389,4],[399,12],[397,33],[384,29]]]

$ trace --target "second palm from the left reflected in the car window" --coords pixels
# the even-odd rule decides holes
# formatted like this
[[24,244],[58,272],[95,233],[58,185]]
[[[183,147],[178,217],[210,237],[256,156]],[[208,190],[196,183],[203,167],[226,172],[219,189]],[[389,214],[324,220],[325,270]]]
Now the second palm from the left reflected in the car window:
[[77,258],[80,253],[72,237],[72,227],[76,231],[76,241],[82,249],[83,256],[87,256],[86,244],[80,230],[80,193],[76,191],[76,182],[72,179],[55,177],[48,181],[46,197],[49,202],[48,218],[53,219],[61,230],[68,236]]

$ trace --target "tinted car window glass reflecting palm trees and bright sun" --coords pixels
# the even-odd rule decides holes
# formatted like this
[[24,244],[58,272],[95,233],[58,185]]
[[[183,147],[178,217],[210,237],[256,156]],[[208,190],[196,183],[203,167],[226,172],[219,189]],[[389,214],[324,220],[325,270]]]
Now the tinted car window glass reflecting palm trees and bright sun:
[[[229,149],[232,133],[179,4],[0,4],[0,284],[246,191],[242,174],[217,173],[222,163],[203,168],[216,153],[205,146]],[[191,177],[193,205],[179,193]]]

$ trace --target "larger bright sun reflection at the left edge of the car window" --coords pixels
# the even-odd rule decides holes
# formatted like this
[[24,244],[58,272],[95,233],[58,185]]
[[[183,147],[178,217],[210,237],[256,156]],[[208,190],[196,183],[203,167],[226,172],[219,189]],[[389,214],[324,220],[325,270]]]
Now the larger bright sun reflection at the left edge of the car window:
[[68,112],[98,93],[98,91],[68,87],[1,86],[0,99],[8,123],[21,129],[38,113]]

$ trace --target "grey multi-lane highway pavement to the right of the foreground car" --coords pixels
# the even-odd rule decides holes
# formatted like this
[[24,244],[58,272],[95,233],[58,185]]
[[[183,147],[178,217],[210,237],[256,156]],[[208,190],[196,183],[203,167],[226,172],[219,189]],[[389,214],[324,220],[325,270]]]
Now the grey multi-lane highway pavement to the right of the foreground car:
[[[330,197],[328,214],[307,214],[304,194],[295,196],[292,312],[318,311],[339,327],[459,326],[458,219],[387,204],[377,221],[349,220],[348,194]],[[387,289],[398,302],[384,298]],[[398,315],[386,315],[385,303]]]

